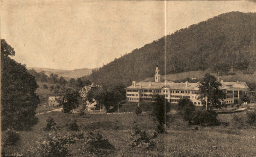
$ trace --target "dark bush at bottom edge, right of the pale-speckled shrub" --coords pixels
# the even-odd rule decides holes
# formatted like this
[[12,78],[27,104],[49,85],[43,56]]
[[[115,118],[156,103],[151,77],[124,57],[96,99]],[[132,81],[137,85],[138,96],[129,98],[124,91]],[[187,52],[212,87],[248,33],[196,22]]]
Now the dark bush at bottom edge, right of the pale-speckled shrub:
[[86,144],[86,150],[97,156],[108,156],[113,153],[115,149],[114,146],[109,143],[108,139],[103,139],[100,130],[88,132],[86,135]]

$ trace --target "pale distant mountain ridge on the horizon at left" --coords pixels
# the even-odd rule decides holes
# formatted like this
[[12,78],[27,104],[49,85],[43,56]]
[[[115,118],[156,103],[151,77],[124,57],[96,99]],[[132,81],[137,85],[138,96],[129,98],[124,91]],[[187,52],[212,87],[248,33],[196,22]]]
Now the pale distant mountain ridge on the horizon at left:
[[28,70],[35,69],[36,72],[45,71],[45,74],[50,76],[51,73],[57,74],[58,76],[62,76],[64,78],[80,78],[82,76],[90,75],[92,73],[92,70],[95,69],[75,69],[75,70],[59,70],[59,69],[49,69],[49,68],[39,68],[39,67],[28,67]]

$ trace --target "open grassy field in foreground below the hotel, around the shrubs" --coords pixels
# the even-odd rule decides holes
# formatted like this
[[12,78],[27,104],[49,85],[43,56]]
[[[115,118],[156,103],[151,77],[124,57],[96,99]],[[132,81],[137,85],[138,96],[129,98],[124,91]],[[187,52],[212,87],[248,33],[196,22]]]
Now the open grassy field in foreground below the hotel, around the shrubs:
[[[245,111],[246,112],[246,111]],[[245,112],[236,113],[244,115]],[[168,157],[254,157],[255,151],[255,128],[254,129],[233,129],[224,125],[232,120],[235,114],[220,114],[218,119],[223,125],[217,127],[198,127],[198,131],[193,131],[195,126],[189,126],[179,115],[171,115],[170,127],[166,135],[166,152],[164,151],[164,134],[158,135],[159,143],[154,150],[132,149],[128,146],[132,135],[132,123],[136,121],[140,129],[153,131],[155,125],[151,122],[147,113],[139,116],[136,114],[114,114],[114,115],[82,115],[63,114],[61,112],[52,112],[48,114],[37,115],[39,123],[33,127],[30,132],[19,132],[21,141],[17,146],[9,146],[7,153],[19,153],[23,156],[34,156],[30,151],[36,152],[35,147],[38,141],[47,134],[43,131],[46,126],[47,117],[52,117],[57,126],[62,129],[58,135],[68,135],[74,131],[68,131],[65,127],[67,123],[77,121],[79,132],[89,132],[95,129],[102,130],[103,138],[110,141],[115,147],[115,153],[109,156],[118,157],[162,157],[164,152]],[[120,125],[120,130],[114,130],[112,124]],[[2,132],[2,135],[4,133]],[[2,136],[3,137],[3,136]],[[77,143],[68,145],[67,148],[72,151],[73,156],[95,156],[86,153],[83,144]]]

